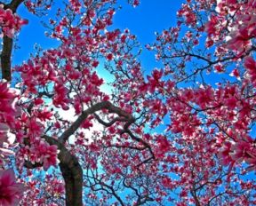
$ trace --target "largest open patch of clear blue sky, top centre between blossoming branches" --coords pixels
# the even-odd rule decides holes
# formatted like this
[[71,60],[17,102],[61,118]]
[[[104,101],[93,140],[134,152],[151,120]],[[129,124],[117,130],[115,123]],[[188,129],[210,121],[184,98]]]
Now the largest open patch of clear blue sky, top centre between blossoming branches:
[[[117,28],[129,28],[138,37],[140,44],[151,44],[156,41],[155,32],[176,25],[176,12],[182,0],[141,0],[135,9],[124,4],[121,11],[116,12],[114,24]],[[156,67],[155,53],[148,52],[145,47],[141,54],[141,65],[145,70]]]

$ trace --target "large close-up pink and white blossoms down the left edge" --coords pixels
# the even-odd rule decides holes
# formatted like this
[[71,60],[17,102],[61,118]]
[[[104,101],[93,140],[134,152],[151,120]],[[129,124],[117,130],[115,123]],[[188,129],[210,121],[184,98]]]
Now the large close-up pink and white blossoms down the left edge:
[[[0,83],[0,166],[4,168],[5,161],[9,155],[13,155],[15,144],[15,117],[19,115],[15,102],[17,91],[9,88],[9,84]],[[16,183],[13,170],[0,170],[0,204],[17,205],[20,201],[24,187]]]

